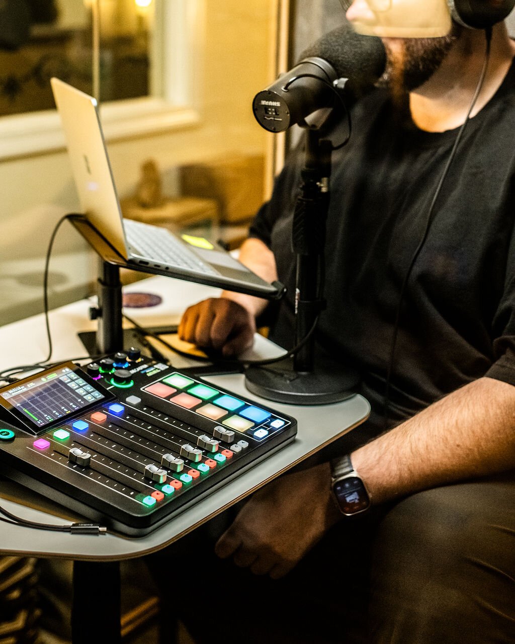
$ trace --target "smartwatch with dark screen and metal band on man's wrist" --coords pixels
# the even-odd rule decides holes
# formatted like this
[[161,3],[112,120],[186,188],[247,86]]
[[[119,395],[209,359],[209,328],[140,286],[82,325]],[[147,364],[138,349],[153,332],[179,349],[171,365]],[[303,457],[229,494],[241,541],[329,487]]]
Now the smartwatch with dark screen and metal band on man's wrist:
[[331,473],[333,497],[342,515],[366,512],[371,505],[370,494],[348,454],[331,461]]

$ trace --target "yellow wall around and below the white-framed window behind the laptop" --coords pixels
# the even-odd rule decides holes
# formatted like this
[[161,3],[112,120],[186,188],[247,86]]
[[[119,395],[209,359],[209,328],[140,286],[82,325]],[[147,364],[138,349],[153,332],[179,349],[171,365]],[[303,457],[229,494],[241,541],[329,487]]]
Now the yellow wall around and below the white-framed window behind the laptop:
[[[131,194],[140,164],[152,157],[173,176],[181,164],[234,151],[264,151],[267,133],[254,121],[252,98],[270,81],[274,0],[207,0],[201,77],[201,124],[183,131],[109,144],[120,196]],[[229,103],[230,98],[230,103]],[[270,136],[270,135],[268,135]],[[173,185],[171,182],[170,185]],[[64,151],[0,164],[0,325],[42,310],[42,269],[53,226],[79,203]],[[96,258],[65,223],[57,237],[50,305],[91,289]]]

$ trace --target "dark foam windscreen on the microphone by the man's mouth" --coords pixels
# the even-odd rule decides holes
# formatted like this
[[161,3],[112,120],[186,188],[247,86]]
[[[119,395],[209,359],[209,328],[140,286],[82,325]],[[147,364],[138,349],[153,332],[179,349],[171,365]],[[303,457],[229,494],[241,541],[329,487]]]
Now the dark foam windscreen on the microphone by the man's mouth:
[[330,63],[339,78],[350,79],[355,87],[373,85],[386,66],[381,40],[356,33],[350,23],[326,33],[301,53],[299,61],[312,57]]

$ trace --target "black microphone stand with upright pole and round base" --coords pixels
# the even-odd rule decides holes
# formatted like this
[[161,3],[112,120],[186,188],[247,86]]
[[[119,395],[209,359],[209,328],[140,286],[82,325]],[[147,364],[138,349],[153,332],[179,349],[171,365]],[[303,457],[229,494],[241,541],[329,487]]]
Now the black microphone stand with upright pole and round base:
[[295,205],[292,247],[296,255],[295,345],[309,337],[292,358],[268,366],[249,366],[247,389],[277,403],[328,404],[354,394],[359,375],[329,359],[315,368],[314,326],[325,300],[321,292],[326,219],[330,199],[333,146],[320,129],[308,129],[301,194]]

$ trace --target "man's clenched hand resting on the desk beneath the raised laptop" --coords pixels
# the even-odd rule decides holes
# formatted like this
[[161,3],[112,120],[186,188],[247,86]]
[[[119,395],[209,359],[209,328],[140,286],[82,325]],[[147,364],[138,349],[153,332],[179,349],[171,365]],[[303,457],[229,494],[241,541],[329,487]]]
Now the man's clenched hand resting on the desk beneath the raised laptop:
[[205,299],[187,308],[178,328],[180,339],[226,357],[252,346],[256,321],[247,308],[232,299]]

